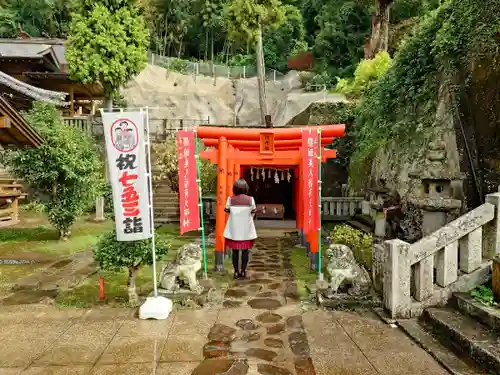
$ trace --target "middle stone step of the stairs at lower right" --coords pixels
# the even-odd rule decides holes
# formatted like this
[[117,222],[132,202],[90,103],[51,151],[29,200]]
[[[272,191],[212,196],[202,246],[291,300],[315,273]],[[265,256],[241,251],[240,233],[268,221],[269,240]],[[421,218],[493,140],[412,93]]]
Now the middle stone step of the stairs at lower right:
[[426,309],[424,319],[443,344],[470,358],[482,369],[500,374],[500,343],[496,333],[449,307]]

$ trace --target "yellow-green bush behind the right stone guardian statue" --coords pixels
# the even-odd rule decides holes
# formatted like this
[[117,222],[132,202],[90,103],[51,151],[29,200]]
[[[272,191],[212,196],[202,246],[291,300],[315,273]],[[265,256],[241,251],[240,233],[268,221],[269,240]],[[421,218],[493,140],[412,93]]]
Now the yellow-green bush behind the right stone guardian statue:
[[332,243],[349,246],[356,260],[368,270],[372,268],[372,236],[349,225],[337,225],[330,234]]

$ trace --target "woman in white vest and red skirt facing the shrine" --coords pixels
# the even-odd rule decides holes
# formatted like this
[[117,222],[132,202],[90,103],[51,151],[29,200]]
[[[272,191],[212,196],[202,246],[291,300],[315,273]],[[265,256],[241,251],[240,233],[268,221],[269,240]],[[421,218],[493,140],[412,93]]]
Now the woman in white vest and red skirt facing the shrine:
[[[234,278],[246,278],[248,250],[257,238],[253,222],[257,207],[252,197],[248,196],[248,184],[240,178],[233,185],[233,196],[227,199],[225,211],[229,219],[224,231],[227,248],[233,251]],[[241,253],[241,268],[239,257]]]

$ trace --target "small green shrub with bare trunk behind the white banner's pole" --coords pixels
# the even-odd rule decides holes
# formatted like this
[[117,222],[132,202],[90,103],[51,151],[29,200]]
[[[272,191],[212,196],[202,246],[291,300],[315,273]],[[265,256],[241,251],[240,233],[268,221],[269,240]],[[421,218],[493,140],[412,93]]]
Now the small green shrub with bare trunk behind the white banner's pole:
[[[159,261],[170,250],[170,244],[156,240],[156,260]],[[135,287],[135,278],[139,267],[153,264],[151,240],[120,242],[116,240],[116,231],[102,236],[93,249],[94,259],[104,271],[121,272],[128,269],[128,296],[132,306],[139,304]]]

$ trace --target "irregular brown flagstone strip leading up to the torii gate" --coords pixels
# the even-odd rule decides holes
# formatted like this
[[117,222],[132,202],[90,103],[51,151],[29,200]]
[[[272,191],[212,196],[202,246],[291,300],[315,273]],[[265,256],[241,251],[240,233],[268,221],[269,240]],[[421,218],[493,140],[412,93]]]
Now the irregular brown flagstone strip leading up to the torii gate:
[[258,240],[248,279],[226,290],[220,322],[210,329],[205,360],[193,375],[315,374],[297,304],[292,246],[291,239]]

